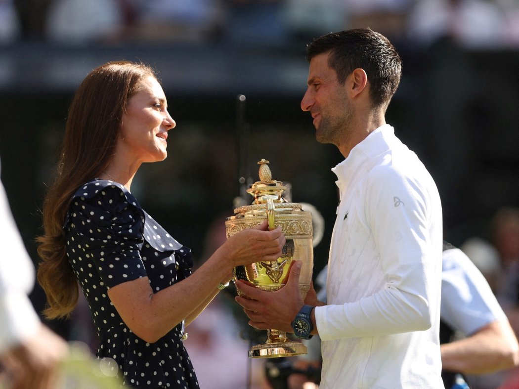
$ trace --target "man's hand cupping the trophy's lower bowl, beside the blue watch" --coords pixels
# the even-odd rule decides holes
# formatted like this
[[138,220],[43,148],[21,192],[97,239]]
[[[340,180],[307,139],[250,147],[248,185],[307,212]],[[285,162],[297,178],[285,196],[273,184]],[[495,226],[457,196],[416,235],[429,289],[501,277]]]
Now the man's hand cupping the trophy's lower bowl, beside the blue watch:
[[304,302],[299,288],[301,261],[293,261],[286,284],[274,292],[264,291],[237,280],[236,287],[247,297],[235,300],[249,316],[249,325],[256,329],[278,329],[292,332],[291,323]]

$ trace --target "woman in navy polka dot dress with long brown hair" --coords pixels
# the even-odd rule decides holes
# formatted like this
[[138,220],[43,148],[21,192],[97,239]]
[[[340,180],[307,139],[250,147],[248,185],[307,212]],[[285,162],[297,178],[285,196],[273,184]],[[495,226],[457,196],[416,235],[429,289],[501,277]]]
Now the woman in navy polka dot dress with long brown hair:
[[38,282],[45,315],[67,317],[79,282],[100,338],[126,385],[198,387],[182,344],[187,325],[229,281],[232,269],[275,260],[285,239],[267,223],[228,239],[193,274],[189,248],[132,196],[143,162],[167,156],[175,121],[151,68],[111,62],[79,86],[69,111],[56,182],[43,210]]

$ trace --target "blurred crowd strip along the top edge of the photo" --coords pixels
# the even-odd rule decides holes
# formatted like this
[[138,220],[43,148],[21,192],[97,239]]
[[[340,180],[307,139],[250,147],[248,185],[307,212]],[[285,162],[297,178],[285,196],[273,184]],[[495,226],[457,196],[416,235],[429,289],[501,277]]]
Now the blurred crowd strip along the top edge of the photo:
[[452,35],[468,47],[517,47],[515,0],[2,0],[0,39],[72,44],[270,40],[365,26],[429,45]]

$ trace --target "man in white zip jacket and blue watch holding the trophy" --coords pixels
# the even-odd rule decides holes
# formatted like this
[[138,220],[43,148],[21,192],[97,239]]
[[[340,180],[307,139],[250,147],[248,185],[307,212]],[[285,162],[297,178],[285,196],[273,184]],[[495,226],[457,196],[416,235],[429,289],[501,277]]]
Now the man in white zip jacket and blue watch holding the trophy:
[[358,29],[317,38],[307,58],[301,107],[312,115],[317,140],[345,157],[333,169],[340,203],[327,303],[313,289],[303,302],[298,261],[285,287],[269,293],[238,281],[250,299],[236,300],[257,329],[319,334],[321,388],[443,387],[440,197],[385,121],[400,56],[383,35]]

